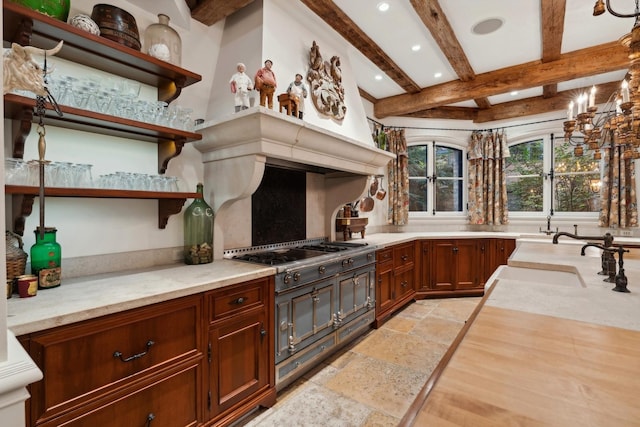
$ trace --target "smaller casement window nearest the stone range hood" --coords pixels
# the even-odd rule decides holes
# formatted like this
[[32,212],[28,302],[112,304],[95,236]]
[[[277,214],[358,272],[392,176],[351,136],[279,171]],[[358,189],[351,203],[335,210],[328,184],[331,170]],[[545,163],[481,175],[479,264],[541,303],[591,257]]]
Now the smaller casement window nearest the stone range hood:
[[462,212],[462,150],[431,143],[409,146],[408,152],[409,210],[434,214]]

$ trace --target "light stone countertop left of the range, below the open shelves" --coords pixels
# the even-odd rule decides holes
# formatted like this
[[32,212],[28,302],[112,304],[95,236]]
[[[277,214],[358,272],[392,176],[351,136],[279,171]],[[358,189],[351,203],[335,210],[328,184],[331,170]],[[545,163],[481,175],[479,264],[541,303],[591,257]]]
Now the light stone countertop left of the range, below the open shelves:
[[32,298],[7,300],[7,327],[24,335],[275,274],[275,268],[219,260],[63,280]]

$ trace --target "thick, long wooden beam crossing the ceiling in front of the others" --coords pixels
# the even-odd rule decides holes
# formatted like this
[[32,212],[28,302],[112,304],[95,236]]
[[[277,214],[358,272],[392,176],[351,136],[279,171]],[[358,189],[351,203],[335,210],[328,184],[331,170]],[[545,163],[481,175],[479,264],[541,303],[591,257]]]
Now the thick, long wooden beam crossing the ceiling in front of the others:
[[556,61],[532,61],[479,74],[468,82],[456,80],[425,88],[416,94],[383,98],[375,104],[374,113],[378,118],[402,116],[467,99],[622,70],[628,66],[627,49],[618,42],[605,43],[563,54]]

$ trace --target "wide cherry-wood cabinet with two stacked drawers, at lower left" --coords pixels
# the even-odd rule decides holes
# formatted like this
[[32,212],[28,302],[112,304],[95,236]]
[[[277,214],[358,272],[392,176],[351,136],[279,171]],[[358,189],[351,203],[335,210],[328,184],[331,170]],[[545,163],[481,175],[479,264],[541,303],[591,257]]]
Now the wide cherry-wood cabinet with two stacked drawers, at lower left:
[[193,296],[31,334],[44,378],[30,386],[29,425],[195,425],[201,325]]

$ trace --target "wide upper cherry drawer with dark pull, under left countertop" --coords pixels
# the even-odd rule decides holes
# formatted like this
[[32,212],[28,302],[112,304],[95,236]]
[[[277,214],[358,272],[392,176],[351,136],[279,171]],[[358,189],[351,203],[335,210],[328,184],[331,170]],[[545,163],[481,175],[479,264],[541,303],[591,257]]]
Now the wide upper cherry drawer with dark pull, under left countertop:
[[34,419],[197,355],[201,316],[201,298],[189,297],[34,334],[31,356],[44,373],[32,386]]

